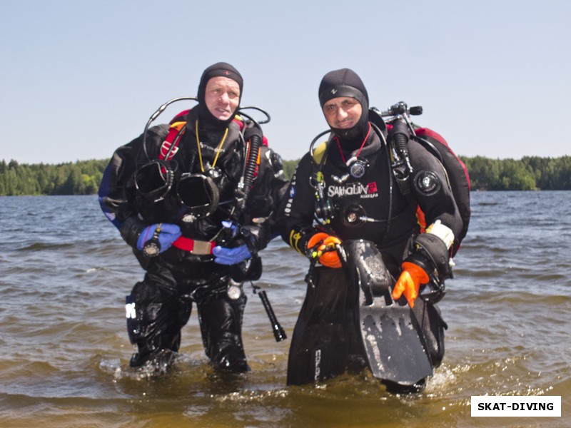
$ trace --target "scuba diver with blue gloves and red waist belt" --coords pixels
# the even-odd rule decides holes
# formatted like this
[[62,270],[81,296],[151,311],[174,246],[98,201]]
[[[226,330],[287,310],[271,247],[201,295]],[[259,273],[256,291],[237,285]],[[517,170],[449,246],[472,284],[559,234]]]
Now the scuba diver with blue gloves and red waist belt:
[[276,235],[275,207],[288,181],[260,123],[243,113],[242,91],[236,68],[209,66],[196,98],[171,100],[198,104],[149,127],[161,106],[105,170],[101,209],[145,270],[126,298],[128,336],[137,346],[131,367],[171,365],[195,303],[212,365],[249,370],[242,282],[261,275],[258,252]]

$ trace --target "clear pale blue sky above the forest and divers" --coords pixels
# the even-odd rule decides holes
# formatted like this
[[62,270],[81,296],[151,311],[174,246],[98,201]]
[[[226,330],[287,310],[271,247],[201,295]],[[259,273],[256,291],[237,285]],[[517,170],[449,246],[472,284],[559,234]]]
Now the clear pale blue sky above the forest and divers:
[[[571,2],[0,0],[0,159],[110,158],[151,113],[232,63],[242,105],[287,160],[325,130],[325,73],[353,68],[372,106],[420,104],[456,153],[571,154]],[[167,121],[186,108],[177,103]],[[159,123],[159,122],[156,122]]]

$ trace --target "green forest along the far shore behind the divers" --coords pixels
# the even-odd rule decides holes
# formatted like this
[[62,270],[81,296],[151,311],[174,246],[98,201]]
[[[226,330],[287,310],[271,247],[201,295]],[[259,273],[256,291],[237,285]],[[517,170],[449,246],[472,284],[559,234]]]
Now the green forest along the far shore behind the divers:
[[[468,168],[472,190],[571,190],[571,156],[490,159],[460,156]],[[57,165],[0,163],[0,195],[91,195],[97,193],[108,160]],[[285,161],[291,177],[298,161]]]

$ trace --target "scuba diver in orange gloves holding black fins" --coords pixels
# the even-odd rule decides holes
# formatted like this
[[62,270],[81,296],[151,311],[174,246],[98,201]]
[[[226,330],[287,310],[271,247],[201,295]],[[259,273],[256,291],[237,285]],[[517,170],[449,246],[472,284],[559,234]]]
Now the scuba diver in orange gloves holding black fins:
[[[435,300],[468,223],[443,165],[412,126],[388,126],[370,109],[357,73],[330,71],[318,95],[330,129],[300,160],[278,227],[310,259],[288,384],[368,365],[390,392],[418,392],[443,360],[446,325]],[[328,141],[315,145],[325,133]],[[438,298],[418,298],[425,289]],[[396,363],[396,373],[387,372]]]

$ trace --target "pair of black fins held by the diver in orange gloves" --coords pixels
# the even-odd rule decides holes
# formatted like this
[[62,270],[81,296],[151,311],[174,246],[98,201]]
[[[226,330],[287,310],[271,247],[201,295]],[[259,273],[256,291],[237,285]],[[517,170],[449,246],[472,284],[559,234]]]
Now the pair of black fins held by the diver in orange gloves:
[[288,385],[318,383],[365,360],[373,376],[404,389],[433,374],[423,330],[374,243],[338,247],[343,269],[315,267],[288,357]]

